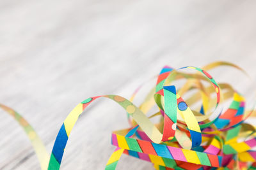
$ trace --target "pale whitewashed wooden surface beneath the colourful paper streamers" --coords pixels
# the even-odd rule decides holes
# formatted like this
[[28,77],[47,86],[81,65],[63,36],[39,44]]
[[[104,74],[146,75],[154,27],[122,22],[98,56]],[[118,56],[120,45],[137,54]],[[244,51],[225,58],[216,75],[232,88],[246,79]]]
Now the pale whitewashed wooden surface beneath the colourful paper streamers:
[[[21,113],[50,152],[77,103],[100,94],[129,98],[166,64],[201,67],[227,60],[255,81],[255,8],[256,1],[231,0],[2,0],[0,102]],[[210,73],[244,93],[253,89],[234,69]],[[95,102],[72,131],[61,169],[104,169],[115,148],[111,131],[125,127],[120,106]],[[26,135],[4,111],[0,136],[0,169],[40,169]],[[124,155],[117,169],[153,168]]]

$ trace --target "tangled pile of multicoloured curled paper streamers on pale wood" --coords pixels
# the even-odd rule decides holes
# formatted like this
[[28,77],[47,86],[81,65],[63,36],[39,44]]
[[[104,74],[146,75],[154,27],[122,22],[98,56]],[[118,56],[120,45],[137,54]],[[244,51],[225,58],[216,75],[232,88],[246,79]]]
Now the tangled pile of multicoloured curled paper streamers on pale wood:
[[[106,164],[108,170],[116,168],[123,153],[152,162],[157,170],[256,169],[256,151],[253,150],[256,146],[255,127],[244,122],[248,117],[255,117],[254,107],[245,110],[245,99],[239,92],[227,83],[216,83],[207,73],[218,66],[236,67],[243,71],[229,62],[214,62],[202,69],[164,66],[157,77],[156,87],[150,90],[139,107],[132,101],[142,85],[130,100],[104,95],[82,101],[63,122],[51,156],[33,127],[19,113],[3,104],[0,106],[24,129],[43,170],[60,169],[68,137],[79,115],[99,97],[106,97],[122,106],[131,125],[112,133],[111,143],[116,150]],[[183,69],[193,69],[196,73],[181,72]],[[182,87],[172,85],[173,81],[182,79],[186,81]],[[184,101],[182,96],[189,92],[191,95]],[[228,102],[229,107],[223,110],[222,103]],[[192,110],[191,106],[196,104],[198,108]],[[148,116],[156,106],[159,110]],[[152,123],[153,117],[159,117],[157,124]]]

